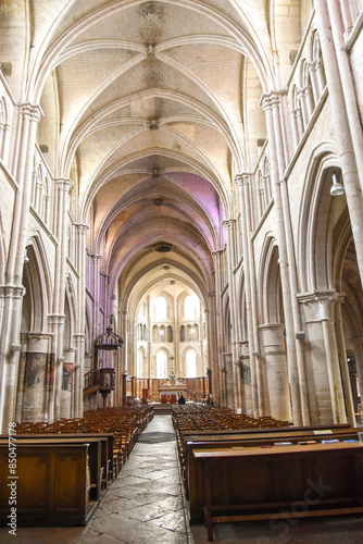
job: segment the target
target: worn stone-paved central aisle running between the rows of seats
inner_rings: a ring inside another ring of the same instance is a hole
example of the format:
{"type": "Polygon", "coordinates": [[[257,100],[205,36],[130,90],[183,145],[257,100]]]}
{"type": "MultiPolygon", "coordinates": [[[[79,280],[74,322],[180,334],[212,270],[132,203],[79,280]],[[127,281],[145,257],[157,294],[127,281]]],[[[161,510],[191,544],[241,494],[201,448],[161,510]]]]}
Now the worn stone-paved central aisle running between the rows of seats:
{"type": "Polygon", "coordinates": [[[82,544],[193,544],[171,416],[155,416],[107,491],[82,544]]]}

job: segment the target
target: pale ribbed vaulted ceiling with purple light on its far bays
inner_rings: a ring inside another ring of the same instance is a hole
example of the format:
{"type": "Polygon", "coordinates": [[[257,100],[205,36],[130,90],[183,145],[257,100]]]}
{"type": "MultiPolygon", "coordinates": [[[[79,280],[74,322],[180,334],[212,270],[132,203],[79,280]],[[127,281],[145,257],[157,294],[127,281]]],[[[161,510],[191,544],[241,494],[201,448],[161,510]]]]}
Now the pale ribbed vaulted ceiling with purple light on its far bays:
{"type": "Polygon", "coordinates": [[[205,296],[235,174],[266,136],[261,94],[299,44],[300,7],[287,20],[273,0],[36,0],[22,18],[21,0],[5,3],[13,91],[41,104],[38,144],[72,178],[89,251],[125,289],[167,262],[205,296]],[[172,250],[155,251],[161,242],[172,250]]]}

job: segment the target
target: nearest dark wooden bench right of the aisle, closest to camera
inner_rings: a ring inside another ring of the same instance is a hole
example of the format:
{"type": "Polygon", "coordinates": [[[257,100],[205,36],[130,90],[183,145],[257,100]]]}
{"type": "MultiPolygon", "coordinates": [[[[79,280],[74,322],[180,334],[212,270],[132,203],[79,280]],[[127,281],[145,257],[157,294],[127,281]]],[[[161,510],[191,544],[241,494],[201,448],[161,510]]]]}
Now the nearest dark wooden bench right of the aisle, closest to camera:
{"type": "Polygon", "coordinates": [[[363,512],[359,443],[192,452],[203,473],[208,541],[213,523],[363,512]]]}

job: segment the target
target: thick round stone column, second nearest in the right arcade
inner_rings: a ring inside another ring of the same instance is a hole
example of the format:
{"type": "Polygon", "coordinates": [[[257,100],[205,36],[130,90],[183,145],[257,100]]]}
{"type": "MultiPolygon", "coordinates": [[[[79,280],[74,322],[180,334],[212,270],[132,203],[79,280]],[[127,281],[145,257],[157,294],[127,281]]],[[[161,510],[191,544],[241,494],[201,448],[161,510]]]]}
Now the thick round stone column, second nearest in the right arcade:
{"type": "Polygon", "coordinates": [[[284,323],[260,325],[267,367],[267,387],[271,416],[275,419],[292,418],[289,381],[286,364],[284,323]]]}

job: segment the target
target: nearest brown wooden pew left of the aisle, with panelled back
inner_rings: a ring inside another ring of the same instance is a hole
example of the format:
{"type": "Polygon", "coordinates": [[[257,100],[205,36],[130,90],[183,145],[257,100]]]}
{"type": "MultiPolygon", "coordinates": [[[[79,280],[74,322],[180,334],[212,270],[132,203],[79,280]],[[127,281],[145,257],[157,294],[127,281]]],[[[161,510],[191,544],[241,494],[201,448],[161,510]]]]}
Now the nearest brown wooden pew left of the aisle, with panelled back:
{"type": "Polygon", "coordinates": [[[9,470],[9,445],[0,444],[0,523],[10,515],[8,482],[16,485],[18,527],[85,526],[89,502],[88,444],[16,442],[16,475],[9,470]],[[10,477],[10,478],[9,478],[10,477]]]}

